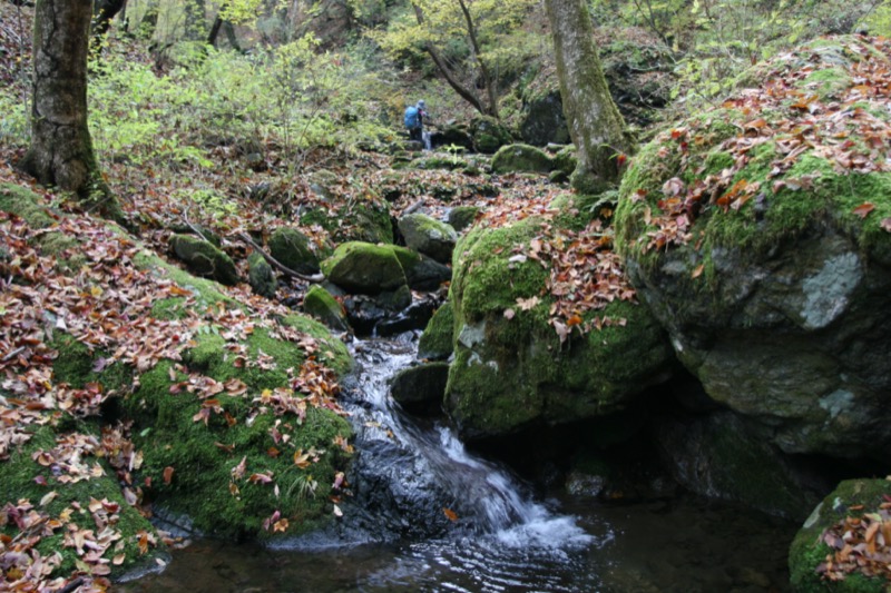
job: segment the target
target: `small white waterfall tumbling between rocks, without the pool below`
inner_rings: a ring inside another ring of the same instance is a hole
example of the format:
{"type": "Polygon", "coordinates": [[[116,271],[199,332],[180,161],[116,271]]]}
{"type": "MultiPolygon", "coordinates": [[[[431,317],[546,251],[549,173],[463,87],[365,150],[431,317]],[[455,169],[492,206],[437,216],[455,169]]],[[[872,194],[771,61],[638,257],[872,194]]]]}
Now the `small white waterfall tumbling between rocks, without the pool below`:
{"type": "Polygon", "coordinates": [[[363,408],[363,414],[354,418],[354,424],[361,423],[364,429],[359,448],[375,451],[383,439],[399,447],[401,463],[411,466],[410,476],[395,467],[384,468],[388,478],[398,482],[392,485],[396,498],[405,478],[415,481],[418,473],[423,473],[412,487],[424,495],[420,503],[432,507],[430,511],[452,535],[495,537],[501,545],[517,547],[584,547],[591,543],[571,517],[555,515],[545,504],[535,502],[503,467],[469,453],[450,427],[402,414],[390,397],[389,379],[413,362],[412,337],[404,334],[353,346],[354,357],[362,365],[354,388],[363,408]]]}

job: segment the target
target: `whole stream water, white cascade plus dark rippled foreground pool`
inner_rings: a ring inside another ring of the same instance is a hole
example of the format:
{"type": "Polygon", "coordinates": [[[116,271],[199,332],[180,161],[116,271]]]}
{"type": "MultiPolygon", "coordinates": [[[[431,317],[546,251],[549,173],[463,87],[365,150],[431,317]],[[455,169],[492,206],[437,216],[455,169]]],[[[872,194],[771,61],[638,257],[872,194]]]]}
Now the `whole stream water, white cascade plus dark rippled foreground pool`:
{"type": "Polygon", "coordinates": [[[449,427],[401,413],[389,378],[411,334],[354,344],[351,412],[364,491],[355,526],[273,548],[202,540],[121,589],[189,591],[785,591],[795,526],[696,498],[536,501],[449,427]],[[378,501],[378,502],[375,502],[378,501]],[[390,501],[375,508],[380,501],[390,501]],[[393,502],[395,504],[393,504],[393,502]],[[369,508],[370,507],[370,508],[369,508]],[[365,511],[365,515],[362,512],[365,511]],[[381,523],[384,523],[381,525],[381,523]]]}

